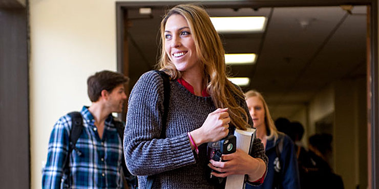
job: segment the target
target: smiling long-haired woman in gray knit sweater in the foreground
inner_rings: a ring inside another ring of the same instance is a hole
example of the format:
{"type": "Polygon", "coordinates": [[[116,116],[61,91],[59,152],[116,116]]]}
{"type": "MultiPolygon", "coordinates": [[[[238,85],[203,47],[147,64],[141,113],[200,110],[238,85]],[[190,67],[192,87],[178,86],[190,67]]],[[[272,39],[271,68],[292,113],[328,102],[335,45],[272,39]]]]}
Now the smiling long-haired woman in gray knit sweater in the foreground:
{"type": "Polygon", "coordinates": [[[158,67],[170,76],[171,87],[165,138],[159,138],[163,81],[153,71],[133,87],[124,132],[125,160],[139,187],[155,175],[153,188],[215,188],[206,181],[209,167],[223,172],[213,173],[217,177],[246,174],[260,184],[267,163],[260,139],[250,154],[237,150],[223,155],[225,162],[209,163],[206,154],[207,143],[229,129],[252,126],[242,91],[227,80],[223,46],[208,14],[178,5],[163,17],[161,37],[158,67]]]}

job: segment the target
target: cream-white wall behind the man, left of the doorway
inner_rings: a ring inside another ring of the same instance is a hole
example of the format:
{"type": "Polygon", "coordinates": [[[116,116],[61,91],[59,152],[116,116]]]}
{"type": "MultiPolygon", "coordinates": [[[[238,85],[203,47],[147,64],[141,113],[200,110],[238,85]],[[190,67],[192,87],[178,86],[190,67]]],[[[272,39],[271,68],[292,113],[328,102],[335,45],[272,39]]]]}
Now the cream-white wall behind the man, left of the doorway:
{"type": "Polygon", "coordinates": [[[88,76],[116,70],[115,9],[110,0],[30,0],[31,188],[41,188],[54,123],[90,105],[88,76]]]}

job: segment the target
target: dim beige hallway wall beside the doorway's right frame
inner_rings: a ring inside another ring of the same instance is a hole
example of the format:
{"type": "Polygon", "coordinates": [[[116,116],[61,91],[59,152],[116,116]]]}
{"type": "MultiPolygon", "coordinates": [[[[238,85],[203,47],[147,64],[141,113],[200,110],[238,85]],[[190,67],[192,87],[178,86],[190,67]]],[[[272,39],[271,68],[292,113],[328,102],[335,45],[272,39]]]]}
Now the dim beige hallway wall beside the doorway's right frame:
{"type": "Polygon", "coordinates": [[[335,86],[334,171],[345,188],[367,187],[366,79],[342,80],[335,86]]]}

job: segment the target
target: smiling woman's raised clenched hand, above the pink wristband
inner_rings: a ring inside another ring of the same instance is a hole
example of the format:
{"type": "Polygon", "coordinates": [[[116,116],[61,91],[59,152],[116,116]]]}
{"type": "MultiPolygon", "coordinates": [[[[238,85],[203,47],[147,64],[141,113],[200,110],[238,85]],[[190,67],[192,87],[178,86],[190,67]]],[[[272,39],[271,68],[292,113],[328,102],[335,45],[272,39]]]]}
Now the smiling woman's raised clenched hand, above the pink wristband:
{"type": "Polygon", "coordinates": [[[228,134],[230,117],[227,110],[228,108],[218,108],[209,113],[203,125],[190,132],[196,146],[210,141],[218,141],[228,134]]]}

